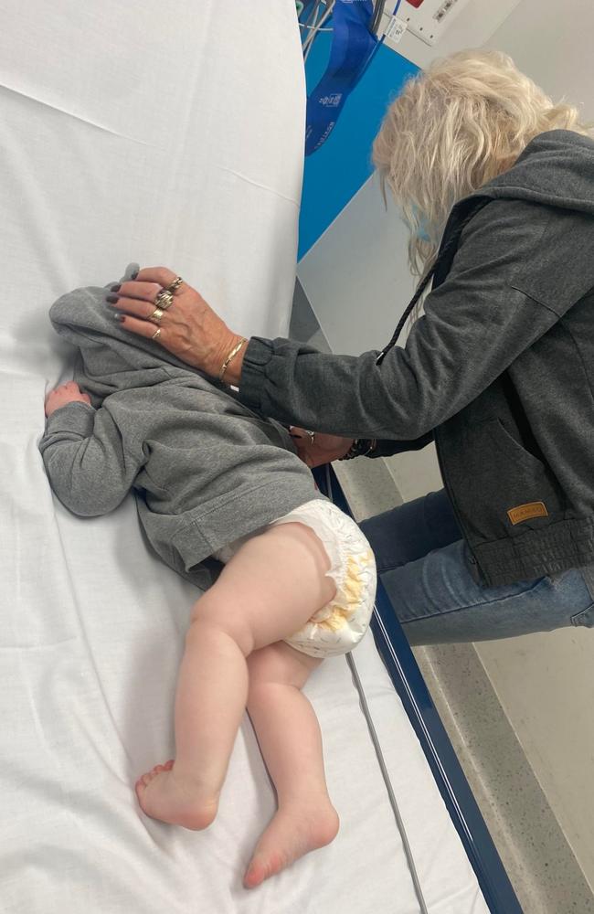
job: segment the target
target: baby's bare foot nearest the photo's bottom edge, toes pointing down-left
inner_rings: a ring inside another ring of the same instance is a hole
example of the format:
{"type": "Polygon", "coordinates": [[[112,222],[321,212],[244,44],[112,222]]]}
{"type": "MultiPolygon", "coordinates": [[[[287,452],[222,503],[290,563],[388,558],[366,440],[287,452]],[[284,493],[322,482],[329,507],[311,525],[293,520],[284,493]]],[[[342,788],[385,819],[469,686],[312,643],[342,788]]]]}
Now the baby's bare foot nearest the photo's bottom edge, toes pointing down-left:
{"type": "Polygon", "coordinates": [[[338,813],[327,798],[311,806],[280,809],[260,837],[243,885],[260,886],[264,879],[280,873],[309,851],[329,845],[338,832],[338,824],[338,813]]]}

